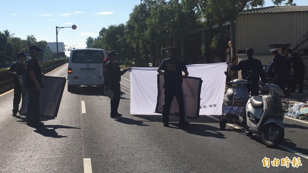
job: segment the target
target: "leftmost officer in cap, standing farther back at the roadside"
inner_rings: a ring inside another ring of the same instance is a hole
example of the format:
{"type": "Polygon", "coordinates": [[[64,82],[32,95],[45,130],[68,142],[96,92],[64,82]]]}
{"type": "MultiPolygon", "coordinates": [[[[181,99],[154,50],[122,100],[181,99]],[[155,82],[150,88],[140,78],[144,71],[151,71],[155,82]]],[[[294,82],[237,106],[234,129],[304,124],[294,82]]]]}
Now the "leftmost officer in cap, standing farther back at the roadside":
{"type": "Polygon", "coordinates": [[[27,55],[28,54],[25,54],[24,52],[17,53],[17,62],[13,63],[9,69],[9,74],[14,76],[14,99],[12,116],[16,116],[17,112],[19,112],[19,104],[21,103],[22,99],[22,88],[18,80],[18,75],[25,75],[26,73],[25,61],[27,55]]]}

